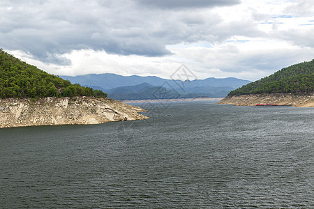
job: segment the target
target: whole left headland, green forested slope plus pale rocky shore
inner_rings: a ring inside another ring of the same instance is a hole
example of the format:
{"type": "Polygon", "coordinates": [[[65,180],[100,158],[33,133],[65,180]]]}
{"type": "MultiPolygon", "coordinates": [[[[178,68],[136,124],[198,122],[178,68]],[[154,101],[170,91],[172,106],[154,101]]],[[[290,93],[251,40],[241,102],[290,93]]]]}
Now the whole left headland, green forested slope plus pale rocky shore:
{"type": "Polygon", "coordinates": [[[0,49],[0,128],[146,119],[145,111],[71,84],[0,49]]]}

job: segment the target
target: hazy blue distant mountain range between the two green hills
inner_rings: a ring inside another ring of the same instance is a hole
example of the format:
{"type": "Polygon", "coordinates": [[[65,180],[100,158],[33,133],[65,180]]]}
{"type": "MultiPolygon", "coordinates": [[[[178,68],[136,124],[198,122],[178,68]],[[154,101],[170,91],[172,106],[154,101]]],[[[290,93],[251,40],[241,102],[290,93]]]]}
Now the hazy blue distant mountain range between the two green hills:
{"type": "Polygon", "coordinates": [[[112,73],[61,76],[73,84],[88,86],[108,93],[116,100],[144,100],[170,98],[223,98],[236,88],[250,83],[233,77],[195,79],[193,81],[162,79],[156,76],[122,76],[112,73]]]}

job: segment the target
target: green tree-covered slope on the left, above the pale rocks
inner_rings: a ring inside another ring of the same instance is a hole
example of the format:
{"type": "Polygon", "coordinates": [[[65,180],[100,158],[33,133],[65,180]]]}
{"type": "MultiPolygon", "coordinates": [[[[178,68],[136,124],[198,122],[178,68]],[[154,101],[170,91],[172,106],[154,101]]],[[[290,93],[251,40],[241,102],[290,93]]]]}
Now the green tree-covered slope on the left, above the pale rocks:
{"type": "Polygon", "coordinates": [[[68,80],[29,65],[0,49],[0,98],[72,96],[107,97],[107,93],[71,84],[68,80]]]}

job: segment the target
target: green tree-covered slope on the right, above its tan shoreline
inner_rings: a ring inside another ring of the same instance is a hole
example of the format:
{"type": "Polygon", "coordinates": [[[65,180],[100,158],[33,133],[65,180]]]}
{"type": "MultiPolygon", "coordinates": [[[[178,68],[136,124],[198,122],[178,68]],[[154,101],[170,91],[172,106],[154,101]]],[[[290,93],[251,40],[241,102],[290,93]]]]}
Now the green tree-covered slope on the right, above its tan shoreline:
{"type": "Polygon", "coordinates": [[[313,93],[314,59],[309,62],[291,65],[264,77],[256,82],[246,84],[231,91],[228,95],[257,93],[313,93]]]}

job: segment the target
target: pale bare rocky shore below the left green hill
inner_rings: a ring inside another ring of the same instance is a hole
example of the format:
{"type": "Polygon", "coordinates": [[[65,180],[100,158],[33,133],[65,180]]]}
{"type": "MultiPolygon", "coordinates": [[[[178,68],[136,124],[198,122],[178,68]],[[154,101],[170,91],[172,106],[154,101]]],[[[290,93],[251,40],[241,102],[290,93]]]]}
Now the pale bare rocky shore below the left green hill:
{"type": "Polygon", "coordinates": [[[0,128],[146,119],[138,114],[141,111],[145,110],[109,98],[0,99],[0,128]]]}

